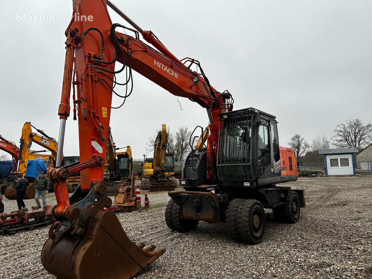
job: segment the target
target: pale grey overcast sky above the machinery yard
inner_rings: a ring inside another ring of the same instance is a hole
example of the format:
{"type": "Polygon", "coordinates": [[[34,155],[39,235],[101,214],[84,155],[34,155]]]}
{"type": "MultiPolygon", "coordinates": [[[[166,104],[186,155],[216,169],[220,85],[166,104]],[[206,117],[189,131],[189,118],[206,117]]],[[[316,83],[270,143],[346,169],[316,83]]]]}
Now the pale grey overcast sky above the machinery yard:
{"type": "MultiPolygon", "coordinates": [[[[294,134],[308,142],[318,134],[330,137],[334,126],[349,118],[372,122],[371,1],[113,3],[178,58],[201,61],[212,86],[233,95],[234,109],[255,107],[276,115],[282,146],[294,134]]],[[[0,134],[18,143],[23,123],[31,121],[58,138],[69,21],[20,23],[16,14],[70,16],[72,1],[2,1],[1,10],[0,134]]],[[[109,11],[113,23],[127,25],[109,11]]],[[[179,98],[180,110],[176,96],[137,73],[133,80],[133,93],[113,110],[110,126],[117,147],[131,145],[134,158],[142,158],[147,138],[163,123],[171,129],[208,124],[196,103],[179,98]],[[164,108],[156,107],[164,100],[164,108]]],[[[113,105],[119,102],[113,98],[113,105]]],[[[78,151],[71,112],[64,154],[78,151]]]]}

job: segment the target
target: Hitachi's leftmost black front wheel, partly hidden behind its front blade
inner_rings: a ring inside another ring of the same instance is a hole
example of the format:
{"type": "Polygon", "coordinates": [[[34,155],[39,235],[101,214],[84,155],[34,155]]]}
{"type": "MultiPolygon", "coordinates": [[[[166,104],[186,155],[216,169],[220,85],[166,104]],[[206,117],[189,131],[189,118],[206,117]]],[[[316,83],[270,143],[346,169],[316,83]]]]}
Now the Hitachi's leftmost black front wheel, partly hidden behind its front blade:
{"type": "Polygon", "coordinates": [[[180,206],[170,199],[166,211],[165,221],[172,231],[190,232],[198,227],[199,221],[180,218],[180,206]]]}

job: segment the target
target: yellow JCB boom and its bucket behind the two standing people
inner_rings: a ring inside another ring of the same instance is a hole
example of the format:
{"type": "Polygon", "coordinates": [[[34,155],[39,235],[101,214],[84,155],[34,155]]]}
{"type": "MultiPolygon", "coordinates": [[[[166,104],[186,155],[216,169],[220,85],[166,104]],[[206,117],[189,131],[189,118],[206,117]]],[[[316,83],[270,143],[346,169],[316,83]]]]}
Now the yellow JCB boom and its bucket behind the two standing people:
{"type": "MultiPolygon", "coordinates": [[[[32,142],[40,145],[41,147],[46,148],[47,150],[51,151],[52,158],[55,158],[57,155],[57,147],[58,143],[55,141],[54,138],[49,137],[44,131],[40,129],[36,129],[36,131],[41,134],[36,134],[32,131],[32,128],[35,128],[31,125],[31,122],[26,122],[22,127],[22,135],[20,138],[20,145],[19,145],[19,157],[18,157],[18,164],[16,171],[9,176],[10,179],[15,180],[17,174],[22,174],[26,176],[27,165],[29,160],[33,160],[35,157],[44,157],[42,155],[35,156],[33,152],[30,150],[32,142]]],[[[52,163],[54,165],[54,163],[52,163]]],[[[26,189],[25,199],[33,199],[35,198],[35,185],[32,181],[32,178],[29,178],[30,185],[26,189]]],[[[11,183],[5,189],[5,197],[7,199],[16,199],[17,193],[14,187],[14,183],[11,183]]]]}

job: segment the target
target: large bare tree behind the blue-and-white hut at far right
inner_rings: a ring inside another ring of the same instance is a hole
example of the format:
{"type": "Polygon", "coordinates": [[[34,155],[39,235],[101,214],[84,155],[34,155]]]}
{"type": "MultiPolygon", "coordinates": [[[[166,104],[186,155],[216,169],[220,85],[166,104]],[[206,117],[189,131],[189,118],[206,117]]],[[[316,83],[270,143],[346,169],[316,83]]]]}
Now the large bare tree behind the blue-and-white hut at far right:
{"type": "Polygon", "coordinates": [[[332,144],[339,148],[363,148],[372,141],[372,124],[359,118],[346,120],[334,129],[332,144]]]}

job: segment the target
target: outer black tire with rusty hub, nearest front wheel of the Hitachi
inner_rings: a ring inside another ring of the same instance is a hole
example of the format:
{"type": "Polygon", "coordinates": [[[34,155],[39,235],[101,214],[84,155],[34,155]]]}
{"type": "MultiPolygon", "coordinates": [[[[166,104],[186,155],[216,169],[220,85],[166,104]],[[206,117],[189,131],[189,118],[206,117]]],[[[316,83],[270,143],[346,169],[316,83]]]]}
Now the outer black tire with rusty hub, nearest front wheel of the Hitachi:
{"type": "Polygon", "coordinates": [[[262,204],[254,199],[242,202],[238,209],[238,234],[243,242],[257,244],[262,241],[266,216],[262,204]]]}

